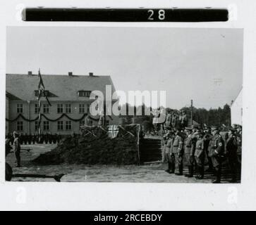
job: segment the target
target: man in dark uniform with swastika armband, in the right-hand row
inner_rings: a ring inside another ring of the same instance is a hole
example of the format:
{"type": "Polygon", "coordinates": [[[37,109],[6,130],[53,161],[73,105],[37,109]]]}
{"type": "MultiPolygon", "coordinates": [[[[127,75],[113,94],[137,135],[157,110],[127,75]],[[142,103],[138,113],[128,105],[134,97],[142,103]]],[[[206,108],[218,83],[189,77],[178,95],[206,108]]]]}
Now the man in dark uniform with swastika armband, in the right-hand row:
{"type": "Polygon", "coordinates": [[[218,127],[212,127],[212,146],[209,150],[209,157],[212,158],[212,165],[214,167],[215,179],[212,183],[220,183],[221,181],[221,162],[224,153],[224,140],[219,134],[218,127]]]}

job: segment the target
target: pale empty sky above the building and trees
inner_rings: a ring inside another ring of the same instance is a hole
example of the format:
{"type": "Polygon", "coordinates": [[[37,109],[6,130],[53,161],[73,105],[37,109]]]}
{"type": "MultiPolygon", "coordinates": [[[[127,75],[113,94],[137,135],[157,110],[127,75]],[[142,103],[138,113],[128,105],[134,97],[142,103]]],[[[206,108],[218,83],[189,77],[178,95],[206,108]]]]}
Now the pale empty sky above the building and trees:
{"type": "Polygon", "coordinates": [[[110,75],[116,90],[166,91],[176,109],[191,99],[222,108],[242,89],[242,29],[7,27],[6,35],[6,73],[110,75]]]}

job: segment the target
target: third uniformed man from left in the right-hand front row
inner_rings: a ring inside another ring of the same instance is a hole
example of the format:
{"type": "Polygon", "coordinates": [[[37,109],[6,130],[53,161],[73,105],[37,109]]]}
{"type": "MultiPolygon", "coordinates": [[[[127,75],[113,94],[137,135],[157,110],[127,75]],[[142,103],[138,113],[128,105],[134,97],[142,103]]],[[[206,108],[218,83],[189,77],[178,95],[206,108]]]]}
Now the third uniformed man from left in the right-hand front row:
{"type": "Polygon", "coordinates": [[[192,129],[189,127],[185,127],[185,131],[187,133],[187,137],[184,141],[185,148],[185,158],[188,162],[188,174],[185,176],[193,177],[194,175],[194,148],[193,148],[193,139],[192,139],[192,129]]]}

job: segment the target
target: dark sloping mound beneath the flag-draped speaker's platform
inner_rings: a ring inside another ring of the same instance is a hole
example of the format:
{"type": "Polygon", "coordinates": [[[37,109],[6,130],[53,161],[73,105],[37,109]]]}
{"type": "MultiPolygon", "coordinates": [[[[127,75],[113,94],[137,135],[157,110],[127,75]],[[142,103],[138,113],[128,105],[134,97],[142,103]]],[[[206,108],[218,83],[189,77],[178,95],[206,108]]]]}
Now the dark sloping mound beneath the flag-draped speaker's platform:
{"type": "Polygon", "coordinates": [[[32,162],[37,165],[138,164],[137,131],[138,126],[128,126],[125,130],[119,129],[118,136],[111,139],[106,128],[94,127],[85,131],[82,136],[63,139],[54,150],[39,155],[32,162]]]}

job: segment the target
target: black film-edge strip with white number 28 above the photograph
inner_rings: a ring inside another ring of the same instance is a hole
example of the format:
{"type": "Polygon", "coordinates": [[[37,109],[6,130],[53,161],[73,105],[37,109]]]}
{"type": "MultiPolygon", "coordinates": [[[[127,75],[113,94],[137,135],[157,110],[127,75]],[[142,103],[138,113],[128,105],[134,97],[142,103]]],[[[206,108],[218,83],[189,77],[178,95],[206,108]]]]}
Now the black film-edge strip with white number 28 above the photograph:
{"type": "Polygon", "coordinates": [[[225,8],[25,8],[24,21],[225,22],[225,8]]]}

